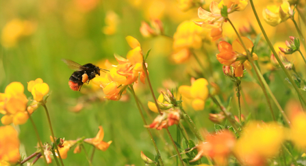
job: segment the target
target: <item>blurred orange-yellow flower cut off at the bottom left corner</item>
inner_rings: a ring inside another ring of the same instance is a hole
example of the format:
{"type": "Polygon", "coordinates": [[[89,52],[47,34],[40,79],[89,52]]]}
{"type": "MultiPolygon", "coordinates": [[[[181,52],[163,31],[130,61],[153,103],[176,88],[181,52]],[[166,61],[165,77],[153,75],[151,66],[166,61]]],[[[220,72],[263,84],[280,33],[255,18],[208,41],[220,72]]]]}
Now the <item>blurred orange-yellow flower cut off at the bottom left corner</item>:
{"type": "Polygon", "coordinates": [[[16,163],[20,159],[18,133],[12,126],[0,126],[0,163],[16,163]]]}

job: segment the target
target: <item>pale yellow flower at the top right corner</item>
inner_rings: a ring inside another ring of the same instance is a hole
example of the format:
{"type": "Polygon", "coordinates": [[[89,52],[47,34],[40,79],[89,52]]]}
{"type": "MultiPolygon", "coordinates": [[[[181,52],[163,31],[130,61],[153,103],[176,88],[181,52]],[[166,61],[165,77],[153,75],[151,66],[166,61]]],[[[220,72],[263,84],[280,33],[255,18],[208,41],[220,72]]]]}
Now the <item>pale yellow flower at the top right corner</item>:
{"type": "Polygon", "coordinates": [[[293,11],[287,0],[283,0],[281,4],[268,5],[262,12],[266,23],[272,26],[277,26],[279,23],[288,20],[292,16],[293,11]]]}

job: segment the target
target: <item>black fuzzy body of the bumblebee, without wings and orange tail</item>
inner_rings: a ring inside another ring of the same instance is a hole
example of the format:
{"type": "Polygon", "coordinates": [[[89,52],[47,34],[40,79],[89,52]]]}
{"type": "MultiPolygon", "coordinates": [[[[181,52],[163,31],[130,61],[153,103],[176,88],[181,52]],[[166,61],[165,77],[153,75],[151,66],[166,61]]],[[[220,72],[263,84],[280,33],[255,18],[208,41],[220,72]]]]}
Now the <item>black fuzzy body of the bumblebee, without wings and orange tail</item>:
{"type": "Polygon", "coordinates": [[[73,72],[71,75],[69,81],[73,81],[73,83],[77,83],[79,86],[83,85],[82,82],[83,75],[88,75],[88,83],[91,79],[94,79],[96,77],[96,74],[100,75],[100,68],[97,66],[94,66],[93,64],[85,64],[83,65],[84,68],[79,71],[73,72]]]}

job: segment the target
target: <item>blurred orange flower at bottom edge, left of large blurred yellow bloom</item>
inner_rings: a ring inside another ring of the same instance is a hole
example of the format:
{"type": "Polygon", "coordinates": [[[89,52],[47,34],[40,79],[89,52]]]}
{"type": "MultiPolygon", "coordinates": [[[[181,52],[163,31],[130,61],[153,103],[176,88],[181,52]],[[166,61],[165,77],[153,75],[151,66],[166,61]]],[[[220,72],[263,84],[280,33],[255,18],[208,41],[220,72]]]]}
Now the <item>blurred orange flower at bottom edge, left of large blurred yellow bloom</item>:
{"type": "Polygon", "coordinates": [[[198,161],[202,156],[209,156],[214,158],[217,165],[227,165],[227,157],[235,146],[235,136],[228,130],[222,130],[220,133],[208,135],[205,140],[196,146],[199,152],[190,162],[198,161]]]}

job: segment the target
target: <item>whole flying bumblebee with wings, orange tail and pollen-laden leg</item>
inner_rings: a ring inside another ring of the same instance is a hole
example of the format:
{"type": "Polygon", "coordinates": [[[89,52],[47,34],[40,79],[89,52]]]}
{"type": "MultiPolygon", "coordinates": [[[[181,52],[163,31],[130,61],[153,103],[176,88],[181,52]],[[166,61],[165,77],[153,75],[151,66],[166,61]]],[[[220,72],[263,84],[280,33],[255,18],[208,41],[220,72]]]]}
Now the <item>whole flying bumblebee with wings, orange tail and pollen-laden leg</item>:
{"type": "Polygon", "coordinates": [[[83,66],[77,64],[75,61],[71,61],[68,59],[62,59],[69,68],[75,70],[71,77],[69,78],[68,85],[74,91],[80,91],[81,86],[84,83],[89,83],[90,80],[96,77],[96,74],[100,75],[100,71],[106,72],[108,70],[99,68],[99,66],[94,66],[93,64],[84,64],[83,66]]]}

